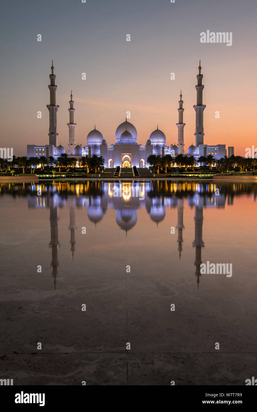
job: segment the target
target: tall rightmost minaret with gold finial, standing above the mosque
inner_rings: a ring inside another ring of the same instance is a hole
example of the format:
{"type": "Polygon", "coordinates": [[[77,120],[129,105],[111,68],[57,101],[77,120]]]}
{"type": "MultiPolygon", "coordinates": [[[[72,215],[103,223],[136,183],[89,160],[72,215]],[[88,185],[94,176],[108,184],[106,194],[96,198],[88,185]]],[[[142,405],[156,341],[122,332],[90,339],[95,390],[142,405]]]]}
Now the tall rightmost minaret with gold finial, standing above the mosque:
{"type": "Polygon", "coordinates": [[[195,129],[195,145],[203,145],[203,110],[206,108],[206,105],[203,105],[203,75],[201,75],[201,60],[199,61],[199,74],[197,77],[196,84],[196,105],[194,105],[194,110],[196,112],[196,129],[195,129]]]}

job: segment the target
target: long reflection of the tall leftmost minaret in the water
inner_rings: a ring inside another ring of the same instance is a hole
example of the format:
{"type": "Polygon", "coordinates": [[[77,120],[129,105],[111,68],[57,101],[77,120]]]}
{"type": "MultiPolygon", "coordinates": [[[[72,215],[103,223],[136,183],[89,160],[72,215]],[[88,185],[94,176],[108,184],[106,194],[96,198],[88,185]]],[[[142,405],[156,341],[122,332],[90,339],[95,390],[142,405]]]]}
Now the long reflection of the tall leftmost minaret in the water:
{"type": "Polygon", "coordinates": [[[50,202],[50,226],[51,226],[51,241],[49,247],[52,248],[52,261],[51,266],[53,267],[52,276],[54,276],[54,288],[56,288],[56,276],[58,262],[58,206],[54,206],[54,198],[51,196],[49,199],[50,202]]]}

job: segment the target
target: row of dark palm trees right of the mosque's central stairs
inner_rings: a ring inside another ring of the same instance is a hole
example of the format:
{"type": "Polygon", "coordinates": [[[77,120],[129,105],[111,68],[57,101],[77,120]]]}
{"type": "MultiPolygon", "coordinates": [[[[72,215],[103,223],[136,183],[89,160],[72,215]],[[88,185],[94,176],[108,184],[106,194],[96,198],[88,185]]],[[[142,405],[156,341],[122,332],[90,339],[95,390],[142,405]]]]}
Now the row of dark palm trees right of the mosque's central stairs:
{"type": "Polygon", "coordinates": [[[183,167],[187,171],[189,167],[192,167],[194,171],[195,166],[209,166],[209,169],[212,170],[213,166],[222,173],[224,169],[227,169],[227,172],[234,169],[235,167],[240,168],[241,171],[246,171],[247,169],[255,171],[255,167],[257,166],[257,159],[255,158],[245,158],[243,156],[234,156],[231,157],[224,156],[221,159],[215,159],[213,155],[208,156],[199,156],[194,157],[193,155],[165,155],[161,157],[160,155],[149,155],[147,157],[147,162],[152,166],[152,168],[157,169],[159,173],[159,169],[165,170],[167,173],[167,169],[171,167],[183,167]]]}

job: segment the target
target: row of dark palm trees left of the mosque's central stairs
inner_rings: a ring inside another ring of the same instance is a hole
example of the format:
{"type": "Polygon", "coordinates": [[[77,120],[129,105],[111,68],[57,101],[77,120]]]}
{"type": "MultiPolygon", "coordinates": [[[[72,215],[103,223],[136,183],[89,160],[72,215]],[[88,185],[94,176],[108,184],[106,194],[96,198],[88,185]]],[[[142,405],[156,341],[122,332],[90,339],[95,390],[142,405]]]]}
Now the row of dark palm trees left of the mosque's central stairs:
{"type": "MultiPolygon", "coordinates": [[[[93,155],[92,157],[86,155],[84,157],[81,157],[79,160],[76,158],[68,157],[66,153],[63,153],[60,157],[57,157],[57,159],[54,159],[53,156],[40,156],[40,157],[27,157],[27,156],[13,156],[12,162],[8,162],[7,159],[0,159],[0,170],[2,171],[5,169],[6,171],[11,171],[12,168],[21,168],[23,169],[23,173],[25,173],[25,170],[30,168],[30,173],[34,173],[35,169],[37,169],[39,166],[41,170],[43,170],[46,166],[47,167],[52,167],[53,169],[55,167],[59,168],[59,171],[61,171],[61,168],[65,168],[67,171],[70,170],[70,168],[75,168],[77,166],[83,167],[87,173],[89,173],[89,169],[95,170],[95,173],[97,169],[99,170],[100,167],[102,167],[105,163],[105,159],[103,156],[97,156],[93,155]]],[[[11,171],[11,173],[14,171],[11,171]]]]}

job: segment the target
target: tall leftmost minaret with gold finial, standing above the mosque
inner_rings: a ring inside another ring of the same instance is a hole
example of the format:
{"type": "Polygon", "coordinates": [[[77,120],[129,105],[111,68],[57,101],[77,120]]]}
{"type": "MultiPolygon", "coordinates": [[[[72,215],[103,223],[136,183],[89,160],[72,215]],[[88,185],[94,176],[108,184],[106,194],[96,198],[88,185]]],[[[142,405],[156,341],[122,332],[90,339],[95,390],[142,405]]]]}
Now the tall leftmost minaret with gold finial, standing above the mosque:
{"type": "Polygon", "coordinates": [[[55,78],[56,75],[54,75],[54,62],[52,60],[52,67],[51,67],[52,73],[49,75],[50,77],[50,84],[48,85],[48,89],[50,90],[50,104],[47,105],[47,108],[49,110],[49,145],[54,145],[55,147],[58,146],[57,142],[57,110],[59,108],[58,105],[56,105],[56,89],[57,86],[55,84],[55,78]]]}

